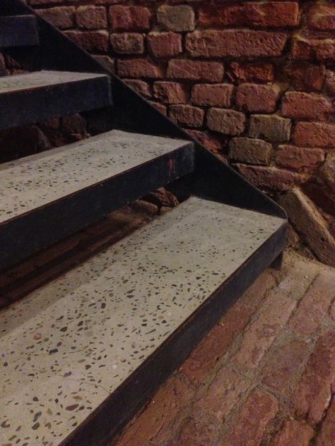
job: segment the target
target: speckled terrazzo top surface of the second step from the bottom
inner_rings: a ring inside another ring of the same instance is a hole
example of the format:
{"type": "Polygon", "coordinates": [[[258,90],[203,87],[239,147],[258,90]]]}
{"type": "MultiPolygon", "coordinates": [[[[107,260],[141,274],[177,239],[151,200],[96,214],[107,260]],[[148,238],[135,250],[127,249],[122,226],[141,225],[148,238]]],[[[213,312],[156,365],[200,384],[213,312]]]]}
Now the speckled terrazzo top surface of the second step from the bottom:
{"type": "Polygon", "coordinates": [[[112,130],[2,164],[0,224],[189,145],[112,130]]]}

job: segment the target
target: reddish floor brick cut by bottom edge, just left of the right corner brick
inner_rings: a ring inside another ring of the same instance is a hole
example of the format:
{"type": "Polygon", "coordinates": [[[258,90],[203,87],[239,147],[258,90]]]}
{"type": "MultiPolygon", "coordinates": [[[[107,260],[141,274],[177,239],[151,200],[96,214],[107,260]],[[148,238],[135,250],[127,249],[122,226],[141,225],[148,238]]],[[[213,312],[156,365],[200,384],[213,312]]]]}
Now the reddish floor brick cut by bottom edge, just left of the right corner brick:
{"type": "Polygon", "coordinates": [[[307,423],[286,420],[281,431],[272,440],[271,446],[309,446],[313,437],[314,430],[307,423]]]}

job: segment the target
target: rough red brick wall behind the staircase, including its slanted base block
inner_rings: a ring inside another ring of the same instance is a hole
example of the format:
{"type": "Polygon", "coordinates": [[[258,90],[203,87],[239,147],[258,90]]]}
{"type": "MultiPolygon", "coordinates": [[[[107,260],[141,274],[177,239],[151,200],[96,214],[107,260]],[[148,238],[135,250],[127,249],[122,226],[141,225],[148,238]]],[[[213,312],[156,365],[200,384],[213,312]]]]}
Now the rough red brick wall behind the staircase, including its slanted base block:
{"type": "Polygon", "coordinates": [[[30,4],[274,194],[335,265],[334,1],[30,4]]]}

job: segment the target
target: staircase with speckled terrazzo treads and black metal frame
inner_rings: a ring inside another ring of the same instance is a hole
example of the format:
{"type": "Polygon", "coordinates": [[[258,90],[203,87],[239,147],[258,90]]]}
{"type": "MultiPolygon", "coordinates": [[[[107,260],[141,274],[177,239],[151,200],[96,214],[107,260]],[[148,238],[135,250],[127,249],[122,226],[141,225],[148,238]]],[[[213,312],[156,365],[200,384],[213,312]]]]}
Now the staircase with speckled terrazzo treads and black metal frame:
{"type": "Polygon", "coordinates": [[[286,215],[20,0],[0,14],[29,71],[0,78],[0,128],[84,112],[96,133],[0,165],[1,270],[160,186],[186,198],[0,312],[0,445],[107,445],[280,264],[286,215]]]}

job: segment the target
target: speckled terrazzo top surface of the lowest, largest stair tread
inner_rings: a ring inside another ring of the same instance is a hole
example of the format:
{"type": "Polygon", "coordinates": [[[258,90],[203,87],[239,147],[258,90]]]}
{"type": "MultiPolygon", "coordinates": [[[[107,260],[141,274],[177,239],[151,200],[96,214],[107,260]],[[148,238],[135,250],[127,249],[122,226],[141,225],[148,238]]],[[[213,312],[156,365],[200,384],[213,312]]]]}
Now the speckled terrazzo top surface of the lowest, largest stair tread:
{"type": "Polygon", "coordinates": [[[192,197],[0,313],[1,444],[58,445],[283,224],[192,197]]]}

